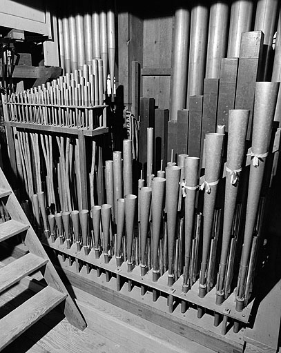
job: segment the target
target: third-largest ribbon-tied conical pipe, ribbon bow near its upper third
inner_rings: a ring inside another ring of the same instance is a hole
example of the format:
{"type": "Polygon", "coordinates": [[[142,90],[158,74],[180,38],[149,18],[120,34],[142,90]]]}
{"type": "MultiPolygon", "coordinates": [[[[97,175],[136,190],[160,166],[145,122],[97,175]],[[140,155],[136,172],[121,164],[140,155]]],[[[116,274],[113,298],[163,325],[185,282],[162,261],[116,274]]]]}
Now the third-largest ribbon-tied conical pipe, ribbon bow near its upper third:
{"type": "Polygon", "coordinates": [[[203,208],[203,245],[202,263],[200,272],[199,296],[206,295],[206,270],[211,243],[213,216],[215,212],[215,197],[217,184],[220,180],[220,168],[222,163],[223,134],[206,134],[205,139],[205,181],[204,181],[204,208],[203,208]]]}

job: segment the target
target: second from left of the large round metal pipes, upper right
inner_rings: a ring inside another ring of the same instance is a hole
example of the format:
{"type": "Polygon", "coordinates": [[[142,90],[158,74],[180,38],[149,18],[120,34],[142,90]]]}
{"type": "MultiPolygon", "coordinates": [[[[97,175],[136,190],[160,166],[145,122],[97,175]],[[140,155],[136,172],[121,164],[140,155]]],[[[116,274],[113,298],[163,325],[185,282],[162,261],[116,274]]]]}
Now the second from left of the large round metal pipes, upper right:
{"type": "Polygon", "coordinates": [[[209,8],[206,1],[198,1],[191,10],[191,39],[189,46],[186,108],[189,97],[203,93],[209,8]]]}

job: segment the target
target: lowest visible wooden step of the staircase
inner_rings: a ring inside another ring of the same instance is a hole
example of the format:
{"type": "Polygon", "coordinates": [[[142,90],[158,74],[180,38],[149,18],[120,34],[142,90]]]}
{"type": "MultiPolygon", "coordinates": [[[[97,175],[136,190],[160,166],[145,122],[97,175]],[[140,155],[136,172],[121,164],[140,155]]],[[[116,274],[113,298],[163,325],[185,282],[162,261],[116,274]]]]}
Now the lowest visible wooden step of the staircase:
{"type": "Polygon", "coordinates": [[[48,286],[4,316],[0,320],[0,351],[64,299],[66,294],[48,286]]]}

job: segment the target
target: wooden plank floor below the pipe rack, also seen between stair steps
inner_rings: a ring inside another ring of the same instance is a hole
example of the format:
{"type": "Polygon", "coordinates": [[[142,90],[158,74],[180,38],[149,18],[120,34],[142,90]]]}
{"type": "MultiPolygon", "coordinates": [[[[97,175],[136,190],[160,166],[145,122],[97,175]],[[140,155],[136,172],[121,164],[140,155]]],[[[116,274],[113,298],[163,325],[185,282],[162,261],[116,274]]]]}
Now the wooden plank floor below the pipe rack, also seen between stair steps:
{"type": "MultiPolygon", "coordinates": [[[[0,318],[40,289],[37,281],[26,279],[4,292],[0,296],[0,318]]],[[[73,290],[88,323],[84,332],[70,325],[57,310],[52,310],[2,352],[214,352],[77,288],[73,290]]]]}

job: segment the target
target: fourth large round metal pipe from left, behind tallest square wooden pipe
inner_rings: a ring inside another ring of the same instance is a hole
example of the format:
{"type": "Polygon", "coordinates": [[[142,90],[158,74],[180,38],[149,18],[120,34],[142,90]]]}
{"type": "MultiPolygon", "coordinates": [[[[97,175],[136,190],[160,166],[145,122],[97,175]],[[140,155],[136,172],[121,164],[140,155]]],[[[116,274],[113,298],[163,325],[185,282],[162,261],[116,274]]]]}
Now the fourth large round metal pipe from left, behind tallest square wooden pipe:
{"type": "Polygon", "coordinates": [[[236,0],[231,5],[227,57],[239,57],[242,32],[251,30],[253,0],[236,0]]]}

